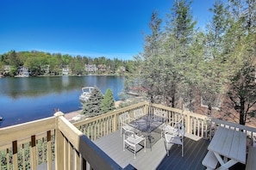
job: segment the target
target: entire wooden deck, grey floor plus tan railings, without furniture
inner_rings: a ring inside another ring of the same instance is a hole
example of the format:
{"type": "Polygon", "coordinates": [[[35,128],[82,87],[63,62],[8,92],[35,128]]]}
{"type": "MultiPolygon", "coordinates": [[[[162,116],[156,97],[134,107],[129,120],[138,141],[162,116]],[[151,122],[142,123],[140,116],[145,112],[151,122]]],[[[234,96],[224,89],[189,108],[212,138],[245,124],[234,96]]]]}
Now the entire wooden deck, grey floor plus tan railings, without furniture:
{"type": "MultiPolygon", "coordinates": [[[[0,169],[205,169],[202,161],[219,127],[243,131],[247,135],[247,149],[255,145],[255,128],[148,102],[75,123],[70,123],[62,112],[56,112],[50,118],[0,129],[0,169]],[[119,117],[124,112],[133,115],[138,109],[144,114],[160,110],[166,113],[166,124],[184,124],[183,157],[176,146],[167,156],[159,136],[152,136],[152,148],[137,152],[136,159],[133,152],[123,151],[119,117]]],[[[237,163],[232,168],[245,169],[249,163],[237,163]]]]}

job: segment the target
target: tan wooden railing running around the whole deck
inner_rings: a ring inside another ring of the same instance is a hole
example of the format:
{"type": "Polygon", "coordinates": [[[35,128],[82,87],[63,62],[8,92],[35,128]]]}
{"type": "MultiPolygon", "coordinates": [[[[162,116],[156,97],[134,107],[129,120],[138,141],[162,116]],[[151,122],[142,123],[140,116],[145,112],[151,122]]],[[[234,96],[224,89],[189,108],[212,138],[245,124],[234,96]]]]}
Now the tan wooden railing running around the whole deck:
{"type": "MultiPolygon", "coordinates": [[[[253,143],[256,129],[194,112],[161,105],[141,102],[133,106],[108,112],[97,117],[70,123],[62,112],[53,117],[42,118],[25,124],[17,124],[0,129],[0,169],[36,169],[45,163],[47,169],[121,169],[103,150],[92,141],[104,137],[121,128],[119,116],[142,109],[144,114],[161,110],[167,112],[167,123],[181,120],[186,133],[196,137],[211,138],[220,125],[247,132],[253,143]],[[52,165],[55,162],[55,165],[52,165]]],[[[129,166],[129,165],[128,165],[129,166]]]]}

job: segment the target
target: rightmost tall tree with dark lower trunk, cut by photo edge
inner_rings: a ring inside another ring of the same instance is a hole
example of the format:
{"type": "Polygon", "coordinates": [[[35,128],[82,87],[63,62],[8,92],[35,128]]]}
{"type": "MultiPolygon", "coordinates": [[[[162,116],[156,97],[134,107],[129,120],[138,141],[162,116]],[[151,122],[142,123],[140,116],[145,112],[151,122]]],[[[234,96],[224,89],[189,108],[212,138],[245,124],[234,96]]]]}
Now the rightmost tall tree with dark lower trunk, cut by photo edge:
{"type": "Polygon", "coordinates": [[[255,1],[230,0],[228,31],[224,36],[228,97],[240,124],[255,116],[255,1]],[[229,68],[232,68],[231,70],[229,68]]]}

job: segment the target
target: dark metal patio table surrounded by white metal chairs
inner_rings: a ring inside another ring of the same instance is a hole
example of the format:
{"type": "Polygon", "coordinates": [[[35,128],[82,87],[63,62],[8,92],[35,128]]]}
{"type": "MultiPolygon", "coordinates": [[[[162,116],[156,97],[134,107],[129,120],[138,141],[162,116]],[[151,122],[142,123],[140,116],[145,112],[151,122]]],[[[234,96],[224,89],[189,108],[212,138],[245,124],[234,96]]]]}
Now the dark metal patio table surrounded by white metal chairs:
{"type": "Polygon", "coordinates": [[[161,124],[164,124],[166,118],[159,117],[153,114],[147,114],[140,118],[135,119],[134,121],[128,123],[130,126],[134,127],[139,131],[147,133],[147,139],[150,144],[150,149],[152,149],[152,140],[151,132],[156,130],[161,124]]]}

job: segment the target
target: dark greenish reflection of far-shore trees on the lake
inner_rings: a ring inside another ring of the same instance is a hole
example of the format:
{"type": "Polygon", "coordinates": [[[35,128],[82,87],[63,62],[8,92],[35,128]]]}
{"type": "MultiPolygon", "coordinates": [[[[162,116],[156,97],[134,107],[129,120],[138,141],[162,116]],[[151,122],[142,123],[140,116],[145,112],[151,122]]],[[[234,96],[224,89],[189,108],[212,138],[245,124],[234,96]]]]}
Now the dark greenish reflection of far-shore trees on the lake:
{"type": "MultiPolygon", "coordinates": [[[[0,96],[12,99],[37,97],[47,94],[59,94],[64,91],[81,89],[84,86],[97,86],[105,91],[107,88],[122,89],[123,76],[56,76],[3,78],[0,81],[0,96]]],[[[117,97],[117,96],[116,96],[117,97]]]]}

